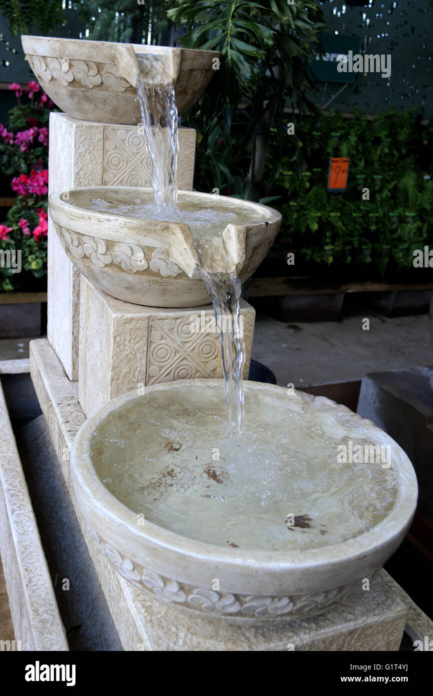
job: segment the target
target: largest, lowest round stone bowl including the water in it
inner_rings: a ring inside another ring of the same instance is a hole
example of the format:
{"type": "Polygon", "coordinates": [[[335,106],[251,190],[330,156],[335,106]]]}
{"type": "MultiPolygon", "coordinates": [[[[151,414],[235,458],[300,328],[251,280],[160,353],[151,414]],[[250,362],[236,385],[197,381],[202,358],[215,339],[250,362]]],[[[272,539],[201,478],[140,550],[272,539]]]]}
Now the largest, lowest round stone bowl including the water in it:
{"type": "Polygon", "coordinates": [[[76,435],[72,480],[117,573],[182,611],[247,624],[320,614],[405,537],[405,452],[325,397],[246,382],[227,434],[222,380],[160,383],[102,406],[76,435]]]}

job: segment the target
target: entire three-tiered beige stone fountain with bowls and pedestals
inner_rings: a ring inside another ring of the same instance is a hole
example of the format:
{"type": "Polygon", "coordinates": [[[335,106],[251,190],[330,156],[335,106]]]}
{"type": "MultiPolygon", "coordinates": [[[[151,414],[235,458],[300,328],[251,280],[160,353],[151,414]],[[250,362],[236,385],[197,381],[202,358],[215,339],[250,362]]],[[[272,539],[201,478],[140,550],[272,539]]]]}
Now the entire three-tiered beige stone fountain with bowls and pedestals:
{"type": "MultiPolygon", "coordinates": [[[[414,514],[405,453],[344,406],[251,382],[243,434],[227,436],[220,335],[190,328],[213,315],[190,228],[133,212],[152,193],[136,53],[165,61],[180,113],[218,54],[23,47],[66,112],[50,121],[49,342],[31,345],[32,378],[124,648],[398,649],[405,609],[377,571],[414,514]],[[350,442],[391,459],[342,466],[350,442]]],[[[194,142],[179,130],[179,201],[211,206],[188,191],[194,142]]],[[[280,216],[218,206],[245,280],[280,216]]],[[[254,310],[240,312],[247,377],[254,310]]]]}

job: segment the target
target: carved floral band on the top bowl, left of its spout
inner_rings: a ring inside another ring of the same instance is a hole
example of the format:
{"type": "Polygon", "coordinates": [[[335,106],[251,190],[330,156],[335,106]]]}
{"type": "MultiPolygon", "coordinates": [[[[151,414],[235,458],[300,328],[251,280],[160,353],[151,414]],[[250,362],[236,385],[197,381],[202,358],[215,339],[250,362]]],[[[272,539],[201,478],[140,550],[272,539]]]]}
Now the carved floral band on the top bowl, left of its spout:
{"type": "MultiPolygon", "coordinates": [[[[100,87],[102,84],[113,92],[124,92],[132,85],[117,74],[117,68],[110,63],[92,63],[92,61],[72,61],[69,58],[49,58],[27,56],[28,63],[40,83],[54,79],[62,87],[72,82],[81,84],[86,89],[100,87]]],[[[75,84],[74,86],[78,86],[75,84]]]]}

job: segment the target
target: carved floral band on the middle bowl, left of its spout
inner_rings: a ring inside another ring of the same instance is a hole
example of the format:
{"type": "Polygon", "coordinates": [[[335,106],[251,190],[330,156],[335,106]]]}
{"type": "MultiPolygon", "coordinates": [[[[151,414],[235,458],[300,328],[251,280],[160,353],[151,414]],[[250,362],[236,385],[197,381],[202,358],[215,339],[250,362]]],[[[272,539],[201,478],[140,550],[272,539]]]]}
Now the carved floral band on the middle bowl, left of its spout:
{"type": "Polygon", "coordinates": [[[86,237],[56,224],[54,227],[63,248],[72,260],[78,261],[86,257],[98,268],[115,264],[131,274],[142,273],[148,269],[147,276],[156,274],[163,278],[173,278],[183,273],[180,266],[170,261],[167,249],[154,249],[149,264],[145,258],[145,249],[148,254],[150,252],[147,247],[143,249],[138,244],[108,242],[99,237],[86,237]]]}

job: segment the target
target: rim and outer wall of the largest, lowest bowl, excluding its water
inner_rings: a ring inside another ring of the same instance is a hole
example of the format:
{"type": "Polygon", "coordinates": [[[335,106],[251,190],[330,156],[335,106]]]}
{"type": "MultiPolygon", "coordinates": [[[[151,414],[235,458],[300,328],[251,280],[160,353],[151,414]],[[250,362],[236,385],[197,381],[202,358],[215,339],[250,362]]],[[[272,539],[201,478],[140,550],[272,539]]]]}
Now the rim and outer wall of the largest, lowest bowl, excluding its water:
{"type": "MultiPolygon", "coordinates": [[[[295,393],[295,398],[300,400],[302,409],[319,411],[327,427],[332,429],[342,425],[354,438],[392,445],[397,492],[382,521],[352,539],[300,551],[226,548],[183,537],[147,519],[138,525],[136,512],[121,503],[99,479],[90,454],[92,436],[106,417],[123,404],[149,399],[151,408],[152,393],[156,390],[165,391],[170,398],[172,390],[186,387],[197,390],[222,388],[222,380],[180,380],[148,386],[141,396],[136,391],[126,393],[102,406],[89,418],[72,446],[71,473],[81,512],[108,560],[126,579],[145,592],[149,590],[149,583],[154,583],[161,592],[165,588],[167,592],[164,590],[161,597],[155,592],[163,601],[170,601],[171,596],[172,601],[183,602],[179,597],[188,596],[188,593],[193,596],[193,603],[197,594],[211,596],[218,609],[218,593],[210,590],[213,579],[218,578],[224,594],[219,605],[222,615],[224,603],[232,602],[232,599],[229,602],[230,597],[236,599],[236,606],[244,607],[240,610],[244,618],[263,619],[261,610],[254,610],[253,616],[249,614],[252,604],[260,605],[260,601],[269,599],[269,605],[274,602],[272,606],[276,606],[275,602],[281,601],[281,606],[287,606],[284,604],[287,598],[303,615],[304,609],[309,612],[311,607],[313,611],[320,609],[321,603],[329,605],[329,601],[338,599],[351,587],[359,589],[363,578],[370,578],[398,548],[414,516],[418,493],[414,469],[405,452],[371,421],[357,416],[345,406],[325,397],[311,397],[300,392],[295,393]],[[170,595],[174,590],[175,594],[180,593],[178,599],[170,595]],[[298,601],[300,597],[302,606],[298,601]]],[[[245,387],[265,395],[283,392],[281,387],[257,382],[246,382],[245,387]]],[[[265,601],[264,604],[268,606],[265,601]]],[[[284,611],[273,614],[270,611],[268,619],[290,620],[288,615],[281,613],[284,611]]],[[[234,618],[234,615],[230,617],[234,618]]]]}

